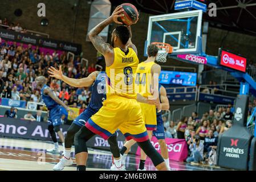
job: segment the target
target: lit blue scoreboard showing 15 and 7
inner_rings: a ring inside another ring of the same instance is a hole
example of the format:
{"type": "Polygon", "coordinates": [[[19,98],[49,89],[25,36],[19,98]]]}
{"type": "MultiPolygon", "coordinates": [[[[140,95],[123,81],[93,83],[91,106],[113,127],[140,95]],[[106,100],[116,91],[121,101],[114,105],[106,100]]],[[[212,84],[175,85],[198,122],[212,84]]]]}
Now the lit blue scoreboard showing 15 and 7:
{"type": "Polygon", "coordinates": [[[196,86],[197,73],[161,71],[159,75],[159,83],[182,86],[196,86]]]}

